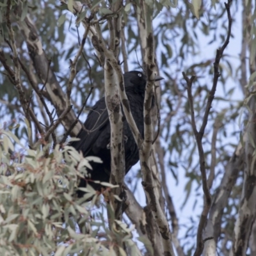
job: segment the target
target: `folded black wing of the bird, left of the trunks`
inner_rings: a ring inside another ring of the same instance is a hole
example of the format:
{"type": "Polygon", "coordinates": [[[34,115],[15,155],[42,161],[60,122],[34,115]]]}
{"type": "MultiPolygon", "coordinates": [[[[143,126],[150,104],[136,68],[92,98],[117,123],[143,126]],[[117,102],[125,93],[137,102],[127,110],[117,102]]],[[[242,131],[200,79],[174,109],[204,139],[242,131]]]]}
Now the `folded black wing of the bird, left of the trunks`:
{"type": "MultiPolygon", "coordinates": [[[[70,146],[76,148],[77,151],[82,151],[84,156],[92,150],[95,141],[102,136],[102,132],[109,126],[108,109],[106,108],[105,98],[100,99],[90,110],[84,127],[77,134],[79,141],[72,141],[70,146]]],[[[107,129],[108,130],[108,129],[107,129]]],[[[108,136],[106,134],[106,136],[108,136]]]]}

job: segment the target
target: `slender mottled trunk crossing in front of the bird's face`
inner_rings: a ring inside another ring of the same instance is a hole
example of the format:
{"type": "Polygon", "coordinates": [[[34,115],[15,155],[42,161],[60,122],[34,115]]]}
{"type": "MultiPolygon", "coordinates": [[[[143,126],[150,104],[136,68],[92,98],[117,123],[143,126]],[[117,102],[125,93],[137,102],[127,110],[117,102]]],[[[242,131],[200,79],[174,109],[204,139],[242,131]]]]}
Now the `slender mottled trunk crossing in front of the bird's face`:
{"type": "MultiPolygon", "coordinates": [[[[152,10],[143,1],[143,12],[144,17],[152,15],[152,10]]],[[[145,48],[145,58],[143,61],[143,66],[145,67],[147,73],[147,85],[145,90],[144,99],[144,140],[143,145],[140,148],[140,163],[141,172],[143,175],[143,189],[147,195],[147,199],[154,216],[154,220],[157,223],[159,232],[161,234],[161,241],[163,243],[163,253],[166,255],[174,255],[172,248],[172,236],[170,233],[170,228],[166,216],[164,215],[163,209],[159,203],[159,198],[156,197],[157,191],[154,186],[154,181],[152,178],[152,170],[150,170],[150,153],[152,152],[152,138],[153,138],[153,125],[151,117],[152,109],[152,96],[153,96],[153,86],[155,80],[155,59],[154,59],[154,36],[152,33],[152,21],[150,19],[145,19],[145,31],[146,31],[146,45],[145,48]]]]}

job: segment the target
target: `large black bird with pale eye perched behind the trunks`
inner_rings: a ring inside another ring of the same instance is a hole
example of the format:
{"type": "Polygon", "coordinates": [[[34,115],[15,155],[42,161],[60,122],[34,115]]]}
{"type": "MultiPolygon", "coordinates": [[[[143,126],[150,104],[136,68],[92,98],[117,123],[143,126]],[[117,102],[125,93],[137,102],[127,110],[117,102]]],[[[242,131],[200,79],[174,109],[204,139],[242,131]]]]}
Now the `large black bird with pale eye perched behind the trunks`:
{"type": "MultiPolygon", "coordinates": [[[[156,76],[155,81],[163,79],[156,76]]],[[[127,98],[130,103],[131,113],[134,121],[144,137],[143,122],[143,102],[145,97],[145,86],[147,77],[138,71],[131,71],[124,74],[124,85],[127,98]]],[[[110,155],[110,124],[108,118],[108,109],[106,107],[105,97],[96,102],[88,113],[84,127],[88,131],[81,129],[77,138],[79,141],[72,141],[70,145],[77,151],[83,152],[83,156],[97,156],[102,159],[102,163],[90,162],[93,170],[88,170],[90,177],[86,179],[100,180],[101,182],[109,182],[111,172],[111,155],[110,155]]],[[[124,120],[124,150],[125,150],[125,173],[139,161],[139,150],[132,136],[127,120],[124,120]]],[[[86,179],[81,179],[79,187],[86,186],[86,179]]],[[[94,189],[100,190],[100,184],[88,181],[94,189]]],[[[79,196],[84,193],[77,192],[79,196]]]]}

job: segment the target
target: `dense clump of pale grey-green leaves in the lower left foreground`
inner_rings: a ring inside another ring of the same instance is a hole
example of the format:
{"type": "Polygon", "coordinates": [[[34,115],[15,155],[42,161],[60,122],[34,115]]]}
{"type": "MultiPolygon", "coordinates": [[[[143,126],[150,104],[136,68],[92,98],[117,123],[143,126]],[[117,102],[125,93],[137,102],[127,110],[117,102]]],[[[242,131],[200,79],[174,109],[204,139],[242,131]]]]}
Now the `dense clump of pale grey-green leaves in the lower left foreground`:
{"type": "MultiPolygon", "coordinates": [[[[84,178],[88,159],[59,145],[46,155],[48,147],[25,149],[11,131],[0,130],[1,255],[109,255],[115,236],[124,237],[132,255],[141,255],[131,240],[132,228],[115,221],[120,228],[111,232],[103,213],[92,212],[97,198],[92,188],[84,188],[83,198],[76,197],[77,177],[84,178]],[[13,152],[13,141],[19,152],[13,152]],[[84,202],[92,196],[92,202],[84,202]]],[[[122,248],[120,252],[125,255],[122,248]]]]}

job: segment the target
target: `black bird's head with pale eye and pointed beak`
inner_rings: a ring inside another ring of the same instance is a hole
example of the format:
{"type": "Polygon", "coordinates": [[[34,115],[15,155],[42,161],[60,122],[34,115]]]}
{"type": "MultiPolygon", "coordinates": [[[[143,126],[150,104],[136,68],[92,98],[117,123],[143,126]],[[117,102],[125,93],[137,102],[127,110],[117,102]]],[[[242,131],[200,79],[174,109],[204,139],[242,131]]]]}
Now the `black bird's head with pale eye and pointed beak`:
{"type": "MultiPolygon", "coordinates": [[[[161,76],[155,76],[155,81],[164,79],[161,76]]],[[[130,71],[124,74],[125,90],[136,90],[145,93],[145,86],[147,84],[147,76],[140,71],[130,71]]]]}

